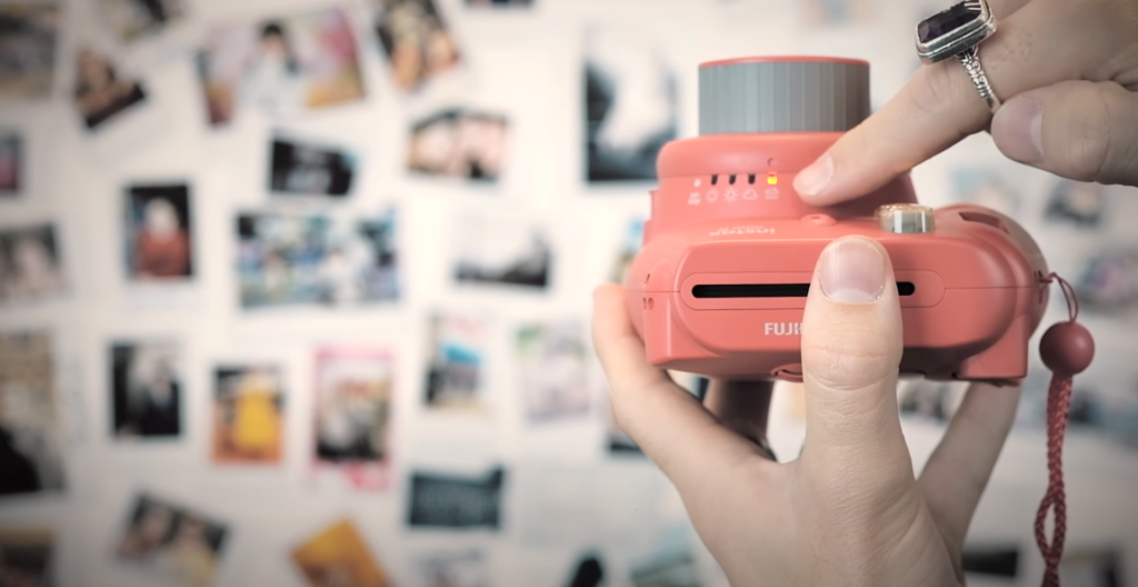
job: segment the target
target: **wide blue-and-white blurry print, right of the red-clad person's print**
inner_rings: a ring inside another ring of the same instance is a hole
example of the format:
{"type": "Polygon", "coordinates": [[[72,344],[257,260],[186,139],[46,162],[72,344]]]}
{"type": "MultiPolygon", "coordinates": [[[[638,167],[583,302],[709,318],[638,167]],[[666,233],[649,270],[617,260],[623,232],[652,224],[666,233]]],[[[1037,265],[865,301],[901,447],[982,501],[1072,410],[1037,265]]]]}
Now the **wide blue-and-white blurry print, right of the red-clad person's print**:
{"type": "Polygon", "coordinates": [[[239,214],[241,307],[347,307],[398,299],[397,228],[394,208],[368,216],[239,214]]]}

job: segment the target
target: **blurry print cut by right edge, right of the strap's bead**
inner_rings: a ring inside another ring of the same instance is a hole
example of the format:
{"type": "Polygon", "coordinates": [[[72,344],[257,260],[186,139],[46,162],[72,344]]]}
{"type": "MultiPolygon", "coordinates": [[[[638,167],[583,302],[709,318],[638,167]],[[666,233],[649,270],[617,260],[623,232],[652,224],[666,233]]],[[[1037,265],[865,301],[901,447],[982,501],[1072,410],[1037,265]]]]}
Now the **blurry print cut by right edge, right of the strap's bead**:
{"type": "Polygon", "coordinates": [[[1087,259],[1074,288],[1080,306],[1088,312],[1138,311],[1138,248],[1106,249],[1087,259]]]}

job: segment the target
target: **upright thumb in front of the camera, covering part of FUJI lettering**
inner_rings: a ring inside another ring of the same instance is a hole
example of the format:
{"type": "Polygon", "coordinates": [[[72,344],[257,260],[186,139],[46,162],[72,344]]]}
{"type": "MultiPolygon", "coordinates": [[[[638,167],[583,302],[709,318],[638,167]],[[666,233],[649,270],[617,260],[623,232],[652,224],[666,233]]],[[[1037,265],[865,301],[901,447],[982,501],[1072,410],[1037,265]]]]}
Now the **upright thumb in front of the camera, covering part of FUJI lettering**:
{"type": "Polygon", "coordinates": [[[818,259],[802,319],[803,458],[858,476],[904,464],[912,474],[897,413],[901,347],[889,254],[866,238],[832,242],[818,259]]]}

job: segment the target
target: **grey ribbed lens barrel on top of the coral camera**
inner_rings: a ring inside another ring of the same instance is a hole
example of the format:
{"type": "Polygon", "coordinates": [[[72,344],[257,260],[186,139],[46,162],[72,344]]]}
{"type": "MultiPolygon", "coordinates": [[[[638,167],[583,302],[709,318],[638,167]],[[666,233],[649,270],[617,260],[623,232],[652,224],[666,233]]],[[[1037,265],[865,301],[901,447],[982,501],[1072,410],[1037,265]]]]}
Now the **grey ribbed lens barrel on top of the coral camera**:
{"type": "Polygon", "coordinates": [[[700,66],[700,134],[846,132],[869,115],[869,64],[769,57],[700,66]]]}

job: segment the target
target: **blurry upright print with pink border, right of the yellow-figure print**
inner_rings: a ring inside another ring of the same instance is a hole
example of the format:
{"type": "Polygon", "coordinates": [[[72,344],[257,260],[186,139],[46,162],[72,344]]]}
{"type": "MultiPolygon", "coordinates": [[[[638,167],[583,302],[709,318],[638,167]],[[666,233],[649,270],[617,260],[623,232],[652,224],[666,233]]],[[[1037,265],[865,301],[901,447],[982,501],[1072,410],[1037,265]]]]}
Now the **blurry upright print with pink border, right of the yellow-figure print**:
{"type": "Polygon", "coordinates": [[[323,348],[315,374],[315,465],[341,472],[355,489],[385,489],[394,357],[378,348],[323,348]]]}

